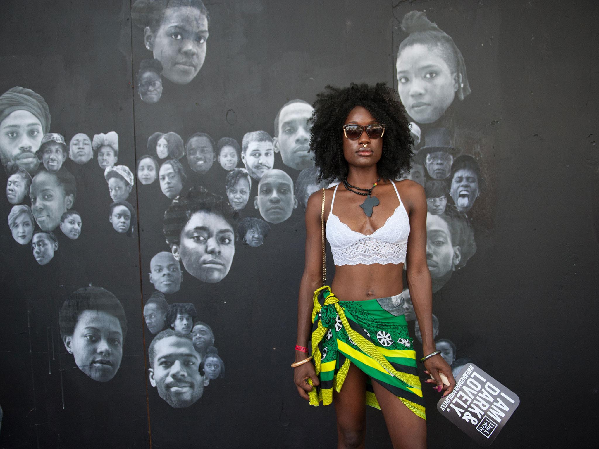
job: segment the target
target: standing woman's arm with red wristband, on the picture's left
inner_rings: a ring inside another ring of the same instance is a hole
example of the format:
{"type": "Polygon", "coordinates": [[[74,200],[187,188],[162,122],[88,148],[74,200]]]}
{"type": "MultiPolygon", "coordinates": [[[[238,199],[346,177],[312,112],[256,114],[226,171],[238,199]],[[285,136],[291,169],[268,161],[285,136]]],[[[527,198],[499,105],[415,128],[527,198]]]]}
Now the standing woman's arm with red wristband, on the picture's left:
{"type": "MultiPolygon", "coordinates": [[[[305,210],[305,265],[304,274],[299,284],[298,299],[298,346],[308,347],[308,339],[312,329],[312,308],[314,290],[322,286],[322,228],[320,227],[320,211],[322,208],[322,190],[310,195],[305,210]]],[[[325,207],[326,208],[326,207],[325,207]]],[[[308,354],[295,351],[295,361],[304,360],[308,354]]],[[[312,390],[305,379],[310,377],[314,385],[319,384],[312,363],[304,363],[294,369],[294,381],[299,395],[308,399],[307,392],[312,390]]]]}

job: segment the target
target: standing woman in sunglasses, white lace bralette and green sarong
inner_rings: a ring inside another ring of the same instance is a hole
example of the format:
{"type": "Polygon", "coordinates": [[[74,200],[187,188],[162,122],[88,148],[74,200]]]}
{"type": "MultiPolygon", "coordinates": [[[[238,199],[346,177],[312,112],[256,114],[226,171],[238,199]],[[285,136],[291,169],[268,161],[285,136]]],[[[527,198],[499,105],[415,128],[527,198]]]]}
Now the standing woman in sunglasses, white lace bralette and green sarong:
{"type": "Polygon", "coordinates": [[[338,447],[364,447],[368,404],[382,409],[394,447],[425,448],[416,353],[401,301],[404,262],[422,330],[425,372],[434,378],[427,382],[447,395],[455,381],[432,337],[424,190],[410,180],[391,181],[410,169],[412,137],[403,105],[383,83],[327,86],[317,95],[312,120],[310,150],[319,180],[342,181],[325,193],[335,277],[317,294],[323,280],[322,190],[308,199],[295,384],[310,404],[334,401],[338,447]],[[312,322],[316,369],[305,362],[312,322]]]}

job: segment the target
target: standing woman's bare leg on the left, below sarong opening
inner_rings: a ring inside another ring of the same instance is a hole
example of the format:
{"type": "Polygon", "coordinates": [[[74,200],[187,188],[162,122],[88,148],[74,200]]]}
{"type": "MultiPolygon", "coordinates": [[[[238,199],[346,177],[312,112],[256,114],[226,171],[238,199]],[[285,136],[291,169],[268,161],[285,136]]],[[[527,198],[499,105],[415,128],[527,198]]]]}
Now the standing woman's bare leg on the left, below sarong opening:
{"type": "Polygon", "coordinates": [[[333,390],[337,412],[337,449],[364,448],[366,436],[366,381],[367,376],[353,363],[341,392],[333,390]]]}

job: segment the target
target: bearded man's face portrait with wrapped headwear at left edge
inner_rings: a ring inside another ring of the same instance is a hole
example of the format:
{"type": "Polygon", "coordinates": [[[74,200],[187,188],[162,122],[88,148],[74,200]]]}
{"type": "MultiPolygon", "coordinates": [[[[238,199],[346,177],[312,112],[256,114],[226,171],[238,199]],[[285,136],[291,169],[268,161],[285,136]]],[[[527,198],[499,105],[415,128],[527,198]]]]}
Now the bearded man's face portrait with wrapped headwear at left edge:
{"type": "Polygon", "coordinates": [[[11,171],[17,165],[34,175],[40,159],[35,152],[50,131],[50,110],[31,89],[13,87],[0,95],[0,162],[11,171]]]}

